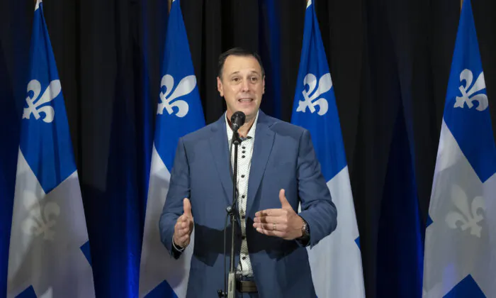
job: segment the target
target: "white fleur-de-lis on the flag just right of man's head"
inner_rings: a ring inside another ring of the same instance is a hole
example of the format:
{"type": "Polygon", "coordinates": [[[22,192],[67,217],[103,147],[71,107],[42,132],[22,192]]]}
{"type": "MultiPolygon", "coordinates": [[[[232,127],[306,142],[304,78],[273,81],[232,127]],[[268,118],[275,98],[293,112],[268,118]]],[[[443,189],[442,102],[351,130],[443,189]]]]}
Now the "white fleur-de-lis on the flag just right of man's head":
{"type": "Polygon", "coordinates": [[[321,96],[325,92],[328,92],[332,88],[332,79],[331,74],[327,72],[327,74],[322,75],[319,79],[319,86],[317,87],[317,77],[312,74],[308,74],[303,79],[303,85],[308,86],[308,91],[303,89],[303,101],[299,101],[298,108],[296,111],[301,111],[305,113],[307,109],[310,110],[311,113],[316,111],[315,106],[319,106],[320,109],[317,112],[320,116],[327,113],[327,109],[329,109],[329,104],[327,103],[327,99],[316,99],[321,96]],[[316,100],[315,100],[316,99],[316,100]]]}

